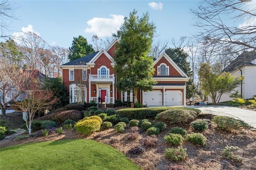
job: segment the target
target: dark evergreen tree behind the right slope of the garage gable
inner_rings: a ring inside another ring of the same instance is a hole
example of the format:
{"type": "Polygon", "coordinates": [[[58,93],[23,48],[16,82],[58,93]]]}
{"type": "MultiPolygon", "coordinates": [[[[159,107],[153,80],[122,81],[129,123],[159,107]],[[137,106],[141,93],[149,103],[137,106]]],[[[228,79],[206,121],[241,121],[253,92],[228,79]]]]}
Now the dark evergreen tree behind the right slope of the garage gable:
{"type": "Polygon", "coordinates": [[[192,71],[190,69],[190,63],[187,61],[188,54],[181,48],[168,48],[165,50],[166,54],[190,77],[186,82],[186,97],[189,99],[196,93],[196,86],[193,83],[192,71]]]}

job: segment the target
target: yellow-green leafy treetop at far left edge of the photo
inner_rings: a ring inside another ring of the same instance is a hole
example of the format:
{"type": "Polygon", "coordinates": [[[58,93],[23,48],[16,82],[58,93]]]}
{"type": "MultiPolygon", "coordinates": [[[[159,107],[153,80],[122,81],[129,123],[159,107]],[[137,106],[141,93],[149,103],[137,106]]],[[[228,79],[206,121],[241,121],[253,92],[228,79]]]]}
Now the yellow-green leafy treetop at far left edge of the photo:
{"type": "Polygon", "coordinates": [[[14,40],[9,39],[6,42],[0,43],[0,55],[1,59],[5,59],[9,64],[20,65],[23,53],[18,50],[14,40]]]}

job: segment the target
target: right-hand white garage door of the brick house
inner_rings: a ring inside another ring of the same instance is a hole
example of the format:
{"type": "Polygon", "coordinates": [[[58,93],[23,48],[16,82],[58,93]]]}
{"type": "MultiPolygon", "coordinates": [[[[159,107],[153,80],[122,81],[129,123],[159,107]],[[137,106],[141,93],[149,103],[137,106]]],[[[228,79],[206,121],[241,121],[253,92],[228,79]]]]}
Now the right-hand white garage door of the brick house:
{"type": "Polygon", "coordinates": [[[182,106],[182,92],[180,90],[166,91],[165,105],[166,106],[182,106]]]}

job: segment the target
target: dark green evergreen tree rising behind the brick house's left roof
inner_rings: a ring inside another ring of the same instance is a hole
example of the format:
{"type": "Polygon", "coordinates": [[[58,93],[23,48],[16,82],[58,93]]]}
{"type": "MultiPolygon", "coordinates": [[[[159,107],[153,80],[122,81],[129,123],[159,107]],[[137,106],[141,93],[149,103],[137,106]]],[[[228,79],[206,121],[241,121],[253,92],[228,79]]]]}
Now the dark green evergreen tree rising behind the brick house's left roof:
{"type": "Polygon", "coordinates": [[[92,45],[88,44],[86,38],[84,38],[83,36],[78,36],[78,38],[74,37],[72,46],[69,47],[69,50],[70,54],[68,55],[68,59],[70,61],[95,52],[92,48],[92,45]]]}

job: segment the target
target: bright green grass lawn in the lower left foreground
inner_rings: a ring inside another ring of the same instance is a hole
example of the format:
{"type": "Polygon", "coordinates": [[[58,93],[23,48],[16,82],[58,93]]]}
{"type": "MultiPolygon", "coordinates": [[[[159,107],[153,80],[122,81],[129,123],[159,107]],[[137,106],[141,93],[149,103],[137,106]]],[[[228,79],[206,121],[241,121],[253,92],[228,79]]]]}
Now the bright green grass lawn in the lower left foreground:
{"type": "Polygon", "coordinates": [[[0,149],[3,170],[139,170],[118,150],[94,140],[56,140],[0,149]]]}

